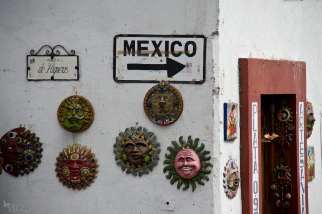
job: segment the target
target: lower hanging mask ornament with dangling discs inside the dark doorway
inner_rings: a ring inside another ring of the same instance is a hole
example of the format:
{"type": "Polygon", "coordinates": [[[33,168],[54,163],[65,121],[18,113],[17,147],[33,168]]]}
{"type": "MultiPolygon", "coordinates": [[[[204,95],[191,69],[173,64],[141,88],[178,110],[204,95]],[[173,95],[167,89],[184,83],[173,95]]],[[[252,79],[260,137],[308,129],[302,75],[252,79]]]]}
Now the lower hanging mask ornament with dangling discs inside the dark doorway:
{"type": "MultiPolygon", "coordinates": [[[[283,162],[283,160],[280,160],[280,162],[283,162]]],[[[276,200],[276,206],[281,207],[282,212],[290,206],[289,200],[291,194],[289,191],[292,189],[290,171],[291,169],[288,166],[283,166],[282,164],[277,165],[274,168],[274,183],[270,186],[274,192],[273,197],[276,200]]]]}

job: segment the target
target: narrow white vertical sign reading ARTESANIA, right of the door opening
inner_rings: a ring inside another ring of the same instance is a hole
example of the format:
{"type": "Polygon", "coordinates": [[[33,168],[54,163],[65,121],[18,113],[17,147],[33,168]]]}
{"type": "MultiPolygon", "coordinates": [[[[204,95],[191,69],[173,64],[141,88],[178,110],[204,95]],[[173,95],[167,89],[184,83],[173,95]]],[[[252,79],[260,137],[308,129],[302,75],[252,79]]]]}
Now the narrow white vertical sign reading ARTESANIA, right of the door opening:
{"type": "Polygon", "coordinates": [[[306,198],[305,198],[305,151],[304,151],[304,102],[299,102],[299,161],[300,161],[300,209],[301,214],[306,214],[306,198]]]}

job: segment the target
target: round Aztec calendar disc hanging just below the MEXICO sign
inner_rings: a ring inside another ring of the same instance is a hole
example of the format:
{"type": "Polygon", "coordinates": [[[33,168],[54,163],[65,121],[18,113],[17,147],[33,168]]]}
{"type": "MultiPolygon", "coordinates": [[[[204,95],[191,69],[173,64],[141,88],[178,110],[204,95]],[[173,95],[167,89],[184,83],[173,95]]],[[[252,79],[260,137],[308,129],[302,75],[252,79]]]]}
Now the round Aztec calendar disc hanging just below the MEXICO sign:
{"type": "Polygon", "coordinates": [[[147,92],[143,106],[151,121],[159,125],[169,125],[181,115],[183,101],[176,88],[162,81],[147,92]]]}

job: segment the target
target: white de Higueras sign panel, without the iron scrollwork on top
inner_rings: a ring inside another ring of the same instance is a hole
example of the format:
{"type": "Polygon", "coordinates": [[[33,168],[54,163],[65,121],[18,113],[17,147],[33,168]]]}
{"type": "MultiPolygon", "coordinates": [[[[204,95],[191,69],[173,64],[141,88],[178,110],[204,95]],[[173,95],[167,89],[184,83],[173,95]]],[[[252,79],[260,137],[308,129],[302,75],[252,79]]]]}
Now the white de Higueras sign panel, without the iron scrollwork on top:
{"type": "Polygon", "coordinates": [[[78,80],[78,56],[27,56],[28,80],[78,80]]]}

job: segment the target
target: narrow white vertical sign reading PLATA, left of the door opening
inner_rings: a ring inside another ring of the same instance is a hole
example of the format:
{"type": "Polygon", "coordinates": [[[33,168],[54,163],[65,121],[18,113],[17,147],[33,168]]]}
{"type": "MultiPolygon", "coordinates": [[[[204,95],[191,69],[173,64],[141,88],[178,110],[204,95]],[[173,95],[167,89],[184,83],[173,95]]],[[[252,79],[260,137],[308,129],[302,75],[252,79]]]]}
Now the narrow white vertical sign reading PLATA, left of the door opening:
{"type": "Polygon", "coordinates": [[[252,153],[253,153],[253,214],[260,213],[258,168],[258,104],[252,103],[252,153]]]}

